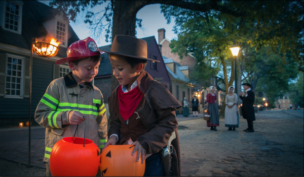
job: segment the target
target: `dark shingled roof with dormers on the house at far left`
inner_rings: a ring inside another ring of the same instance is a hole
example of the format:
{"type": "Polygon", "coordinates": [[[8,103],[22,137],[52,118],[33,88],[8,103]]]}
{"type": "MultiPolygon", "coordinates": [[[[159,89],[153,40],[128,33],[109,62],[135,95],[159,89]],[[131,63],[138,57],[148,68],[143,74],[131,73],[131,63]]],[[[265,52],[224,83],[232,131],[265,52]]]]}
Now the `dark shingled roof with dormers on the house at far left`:
{"type": "MultiPolygon", "coordinates": [[[[9,44],[21,48],[31,49],[31,40],[33,37],[39,38],[47,36],[48,32],[45,29],[43,22],[46,19],[55,17],[55,10],[38,1],[22,1],[22,31],[21,34],[16,34],[11,31],[4,30],[0,27],[0,41],[4,44],[9,44]]],[[[77,34],[72,27],[68,25],[67,46],[79,40],[77,34]]],[[[56,56],[66,57],[67,48],[59,46],[56,56]]]]}

